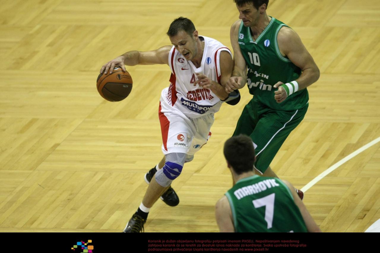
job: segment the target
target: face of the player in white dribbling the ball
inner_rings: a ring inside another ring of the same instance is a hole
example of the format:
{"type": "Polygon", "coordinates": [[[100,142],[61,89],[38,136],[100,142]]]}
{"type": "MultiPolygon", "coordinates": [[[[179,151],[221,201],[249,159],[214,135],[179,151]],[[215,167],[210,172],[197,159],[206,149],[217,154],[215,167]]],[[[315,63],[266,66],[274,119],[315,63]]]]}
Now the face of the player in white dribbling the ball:
{"type": "Polygon", "coordinates": [[[186,60],[192,60],[198,52],[196,38],[198,38],[198,32],[194,32],[193,36],[190,36],[185,31],[180,31],[177,35],[169,37],[171,44],[182,54],[186,60]]]}

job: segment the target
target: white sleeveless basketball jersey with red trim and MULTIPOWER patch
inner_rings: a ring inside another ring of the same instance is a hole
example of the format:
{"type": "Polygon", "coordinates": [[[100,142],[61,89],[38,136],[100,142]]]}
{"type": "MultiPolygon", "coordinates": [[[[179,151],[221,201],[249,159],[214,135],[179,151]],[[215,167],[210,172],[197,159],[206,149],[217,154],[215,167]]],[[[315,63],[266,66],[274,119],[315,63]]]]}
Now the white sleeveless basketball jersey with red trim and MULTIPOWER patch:
{"type": "Polygon", "coordinates": [[[179,109],[189,118],[219,111],[222,101],[210,89],[194,85],[194,82],[197,80],[196,73],[201,73],[210,80],[220,83],[220,52],[228,51],[231,54],[231,51],[219,41],[205,36],[199,38],[204,38],[203,57],[199,68],[196,68],[191,61],[187,61],[174,46],[170,50],[171,84],[162,94],[166,98],[166,103],[179,109]]]}

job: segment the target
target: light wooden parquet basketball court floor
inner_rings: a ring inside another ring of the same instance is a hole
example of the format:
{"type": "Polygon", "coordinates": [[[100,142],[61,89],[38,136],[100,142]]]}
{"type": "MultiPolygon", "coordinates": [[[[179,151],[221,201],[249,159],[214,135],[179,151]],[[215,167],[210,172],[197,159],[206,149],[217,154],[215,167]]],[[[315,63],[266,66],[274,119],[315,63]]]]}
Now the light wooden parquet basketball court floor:
{"type": "MultiPolygon", "coordinates": [[[[310,106],[272,161],[302,188],[380,137],[380,3],[270,0],[320,68],[310,106]]],[[[122,231],[162,157],[164,65],[127,67],[133,90],[103,100],[101,66],[130,50],[170,44],[185,16],[201,35],[230,47],[232,0],[2,0],[0,5],[0,231],[122,231]]],[[[222,154],[251,96],[215,114],[212,137],[173,182],[177,207],[158,201],[147,232],[215,232],[215,202],[231,187],[222,154]],[[169,215],[163,215],[163,213],[169,215]]],[[[380,143],[337,167],[305,193],[322,231],[364,232],[380,219],[380,143]]]]}

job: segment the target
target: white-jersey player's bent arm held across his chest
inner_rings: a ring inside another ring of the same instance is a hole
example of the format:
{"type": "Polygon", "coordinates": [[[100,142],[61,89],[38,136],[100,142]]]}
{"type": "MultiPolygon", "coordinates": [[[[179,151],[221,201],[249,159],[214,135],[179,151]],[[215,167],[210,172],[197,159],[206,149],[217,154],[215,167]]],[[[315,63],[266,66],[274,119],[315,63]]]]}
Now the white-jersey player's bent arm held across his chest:
{"type": "MultiPolygon", "coordinates": [[[[219,63],[220,63],[220,84],[223,85],[231,76],[232,68],[233,68],[233,60],[231,57],[231,54],[227,51],[220,52],[219,57],[219,63]]],[[[225,88],[220,85],[219,83],[210,80],[207,76],[204,74],[196,74],[197,80],[194,82],[194,84],[198,84],[204,89],[210,89],[215,95],[220,98],[220,100],[226,100],[228,98],[228,93],[226,92],[225,88]]]]}

